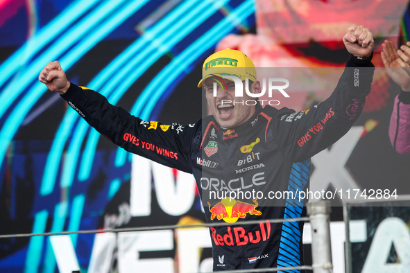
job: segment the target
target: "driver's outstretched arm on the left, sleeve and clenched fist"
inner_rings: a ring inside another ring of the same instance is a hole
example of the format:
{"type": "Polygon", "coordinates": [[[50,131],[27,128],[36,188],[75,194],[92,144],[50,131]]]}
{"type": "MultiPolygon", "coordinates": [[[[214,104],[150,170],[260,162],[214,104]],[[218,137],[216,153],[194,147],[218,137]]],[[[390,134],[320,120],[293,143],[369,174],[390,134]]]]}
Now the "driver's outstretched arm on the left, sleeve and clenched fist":
{"type": "Polygon", "coordinates": [[[59,62],[47,64],[39,80],[60,94],[89,125],[113,143],[165,166],[191,173],[191,151],[198,146],[194,138],[200,135],[200,123],[163,125],[143,121],[111,105],[98,92],[70,83],[59,62]]]}

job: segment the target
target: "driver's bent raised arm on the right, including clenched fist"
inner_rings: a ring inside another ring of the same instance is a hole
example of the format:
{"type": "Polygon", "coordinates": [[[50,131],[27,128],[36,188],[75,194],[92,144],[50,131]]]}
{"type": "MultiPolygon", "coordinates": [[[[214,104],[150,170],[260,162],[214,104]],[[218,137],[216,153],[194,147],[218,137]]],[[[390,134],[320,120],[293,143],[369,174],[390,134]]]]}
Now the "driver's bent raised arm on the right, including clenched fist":
{"type": "Polygon", "coordinates": [[[281,109],[273,123],[282,152],[292,161],[308,159],[339,140],[364,107],[373,81],[373,35],[364,26],[350,26],[343,42],[351,58],[332,95],[307,111],[281,109]]]}

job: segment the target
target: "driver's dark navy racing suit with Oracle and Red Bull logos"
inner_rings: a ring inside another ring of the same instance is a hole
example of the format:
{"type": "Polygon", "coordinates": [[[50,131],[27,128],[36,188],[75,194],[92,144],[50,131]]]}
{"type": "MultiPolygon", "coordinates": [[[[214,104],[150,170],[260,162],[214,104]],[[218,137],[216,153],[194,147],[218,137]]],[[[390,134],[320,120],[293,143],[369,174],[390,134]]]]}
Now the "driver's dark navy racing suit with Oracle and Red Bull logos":
{"type": "Polygon", "coordinates": [[[221,128],[212,116],[191,125],[142,121],[74,84],[62,97],[118,146],[194,174],[207,222],[232,223],[210,228],[214,270],[288,267],[303,264],[303,222],[273,224],[267,219],[305,215],[305,200],[299,200],[298,193],[309,183],[309,158],[355,123],[370,91],[373,70],[370,61],[359,65],[351,59],[325,102],[298,113],[257,106],[250,120],[230,130],[221,128]],[[279,191],[294,195],[268,197],[269,192],[279,191]],[[237,195],[231,199],[222,195],[233,192],[237,195]],[[263,197],[255,197],[256,192],[263,197]],[[235,224],[244,220],[262,222],[235,224]]]}

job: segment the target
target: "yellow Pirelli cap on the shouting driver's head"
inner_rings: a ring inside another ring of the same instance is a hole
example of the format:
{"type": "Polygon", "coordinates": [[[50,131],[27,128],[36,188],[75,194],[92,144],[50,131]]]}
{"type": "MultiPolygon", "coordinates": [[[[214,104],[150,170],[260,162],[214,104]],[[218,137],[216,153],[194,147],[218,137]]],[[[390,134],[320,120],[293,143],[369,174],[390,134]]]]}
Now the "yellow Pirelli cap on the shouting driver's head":
{"type": "Polygon", "coordinates": [[[203,63],[202,79],[198,87],[212,76],[237,76],[241,80],[249,78],[256,82],[256,69],[252,60],[241,51],[223,49],[210,55],[203,63]]]}

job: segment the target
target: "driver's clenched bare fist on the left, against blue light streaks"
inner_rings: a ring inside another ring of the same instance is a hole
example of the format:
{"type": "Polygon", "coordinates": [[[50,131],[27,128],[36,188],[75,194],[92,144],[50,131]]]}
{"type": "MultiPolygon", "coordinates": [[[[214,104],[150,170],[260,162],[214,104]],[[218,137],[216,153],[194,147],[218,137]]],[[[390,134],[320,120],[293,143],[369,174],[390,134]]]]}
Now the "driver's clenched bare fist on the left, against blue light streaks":
{"type": "Polygon", "coordinates": [[[61,69],[60,62],[49,62],[41,71],[38,80],[44,83],[46,87],[53,92],[62,95],[65,94],[70,87],[70,82],[65,76],[65,72],[61,69]]]}

